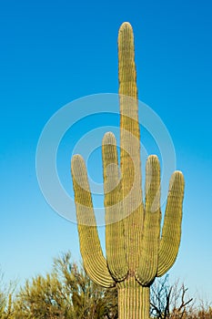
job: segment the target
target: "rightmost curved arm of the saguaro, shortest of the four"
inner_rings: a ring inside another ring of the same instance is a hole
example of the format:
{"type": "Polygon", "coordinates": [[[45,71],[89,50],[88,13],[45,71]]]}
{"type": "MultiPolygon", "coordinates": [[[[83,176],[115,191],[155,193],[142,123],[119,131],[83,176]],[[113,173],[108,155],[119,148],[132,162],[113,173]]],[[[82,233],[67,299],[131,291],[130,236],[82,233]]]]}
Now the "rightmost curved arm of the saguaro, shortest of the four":
{"type": "Polygon", "coordinates": [[[184,198],[184,177],[175,171],[169,182],[167,207],[160,240],[157,276],[167,273],[177,258],[181,237],[182,207],[184,198]]]}

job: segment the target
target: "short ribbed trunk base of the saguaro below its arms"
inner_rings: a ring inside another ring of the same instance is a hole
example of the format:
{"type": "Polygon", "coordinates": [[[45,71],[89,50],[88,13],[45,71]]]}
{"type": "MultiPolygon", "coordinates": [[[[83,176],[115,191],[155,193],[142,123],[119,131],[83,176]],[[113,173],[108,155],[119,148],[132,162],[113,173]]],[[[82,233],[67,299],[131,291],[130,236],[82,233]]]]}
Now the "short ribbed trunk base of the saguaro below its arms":
{"type": "Polygon", "coordinates": [[[148,318],[149,287],[134,283],[134,286],[118,288],[118,319],[148,318]]]}

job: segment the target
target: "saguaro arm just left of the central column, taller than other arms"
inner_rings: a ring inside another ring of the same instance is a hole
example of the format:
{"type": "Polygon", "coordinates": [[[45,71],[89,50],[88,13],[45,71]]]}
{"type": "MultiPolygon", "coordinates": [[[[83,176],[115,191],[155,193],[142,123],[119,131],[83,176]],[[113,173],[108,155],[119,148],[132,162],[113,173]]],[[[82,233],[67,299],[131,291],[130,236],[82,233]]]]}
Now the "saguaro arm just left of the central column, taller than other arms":
{"type": "Polygon", "coordinates": [[[116,282],[126,278],[125,237],[123,225],[123,207],[119,182],[116,138],[106,133],[102,142],[105,208],[106,208],[106,260],[108,268],[116,282]]]}

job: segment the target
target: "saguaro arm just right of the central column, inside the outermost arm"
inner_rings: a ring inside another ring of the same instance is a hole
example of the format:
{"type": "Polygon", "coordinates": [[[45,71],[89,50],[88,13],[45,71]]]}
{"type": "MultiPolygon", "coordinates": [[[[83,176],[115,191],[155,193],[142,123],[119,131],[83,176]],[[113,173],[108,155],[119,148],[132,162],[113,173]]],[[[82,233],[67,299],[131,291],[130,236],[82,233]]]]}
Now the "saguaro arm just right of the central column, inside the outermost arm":
{"type": "Polygon", "coordinates": [[[148,285],[156,277],[160,240],[160,163],[156,155],[146,161],[146,202],[143,241],[136,280],[148,285]]]}

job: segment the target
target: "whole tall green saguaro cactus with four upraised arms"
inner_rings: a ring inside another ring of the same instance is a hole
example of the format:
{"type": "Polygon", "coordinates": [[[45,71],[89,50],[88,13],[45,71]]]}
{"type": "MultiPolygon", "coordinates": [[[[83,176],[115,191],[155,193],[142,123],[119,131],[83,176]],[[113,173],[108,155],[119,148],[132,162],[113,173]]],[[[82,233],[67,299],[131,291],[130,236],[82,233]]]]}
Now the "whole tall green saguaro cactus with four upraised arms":
{"type": "Polygon", "coordinates": [[[149,318],[149,287],[156,276],[176,260],[182,219],[184,178],[175,171],[170,179],[167,208],[160,233],[160,165],[155,155],[146,160],[145,203],[142,201],[140,132],[132,27],[124,23],[118,34],[120,95],[120,171],[115,136],[103,139],[106,209],[106,258],[101,249],[89,190],[86,165],[73,157],[80,250],[86,273],[104,287],[118,290],[119,318],[149,318]]]}

